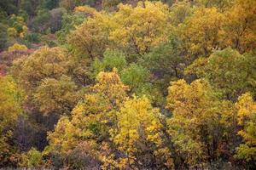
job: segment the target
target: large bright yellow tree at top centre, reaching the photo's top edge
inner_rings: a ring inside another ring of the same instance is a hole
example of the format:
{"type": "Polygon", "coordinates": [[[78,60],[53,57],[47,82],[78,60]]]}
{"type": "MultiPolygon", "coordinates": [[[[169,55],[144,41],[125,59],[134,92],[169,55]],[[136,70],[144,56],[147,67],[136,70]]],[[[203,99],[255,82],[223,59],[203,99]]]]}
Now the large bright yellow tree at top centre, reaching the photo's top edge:
{"type": "Polygon", "coordinates": [[[110,40],[130,53],[142,55],[168,40],[171,25],[168,6],[163,3],[139,2],[135,8],[120,4],[113,20],[116,26],[110,40]]]}

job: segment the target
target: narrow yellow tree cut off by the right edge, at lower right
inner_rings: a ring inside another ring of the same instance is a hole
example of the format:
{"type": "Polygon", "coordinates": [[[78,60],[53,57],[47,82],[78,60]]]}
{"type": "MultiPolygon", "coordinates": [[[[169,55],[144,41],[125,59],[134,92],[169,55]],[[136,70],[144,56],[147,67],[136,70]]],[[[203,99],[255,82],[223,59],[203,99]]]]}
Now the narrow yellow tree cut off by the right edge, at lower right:
{"type": "MultiPolygon", "coordinates": [[[[243,144],[236,148],[236,157],[248,162],[256,161],[256,102],[250,94],[243,94],[236,103],[238,134],[243,144]]],[[[255,165],[255,164],[254,164],[255,165]]]]}

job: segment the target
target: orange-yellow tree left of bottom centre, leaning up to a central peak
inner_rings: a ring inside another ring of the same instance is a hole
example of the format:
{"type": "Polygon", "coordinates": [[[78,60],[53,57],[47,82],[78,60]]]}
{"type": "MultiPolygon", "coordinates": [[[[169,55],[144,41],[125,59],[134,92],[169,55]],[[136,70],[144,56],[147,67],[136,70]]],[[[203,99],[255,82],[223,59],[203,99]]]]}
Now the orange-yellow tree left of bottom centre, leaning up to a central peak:
{"type": "Polygon", "coordinates": [[[61,118],[55,131],[49,133],[49,146],[45,154],[52,156],[53,161],[55,156],[60,156],[63,167],[81,168],[79,166],[86,157],[90,157],[88,159],[91,161],[102,161],[101,145],[109,141],[108,130],[116,122],[114,110],[118,111],[126,99],[126,91],[127,87],[116,71],[101,72],[97,83],[86,91],[83,100],[73,109],[70,120],[61,118]],[[83,145],[90,150],[81,149],[83,145]],[[67,161],[66,158],[73,155],[78,155],[79,159],[67,161]]]}

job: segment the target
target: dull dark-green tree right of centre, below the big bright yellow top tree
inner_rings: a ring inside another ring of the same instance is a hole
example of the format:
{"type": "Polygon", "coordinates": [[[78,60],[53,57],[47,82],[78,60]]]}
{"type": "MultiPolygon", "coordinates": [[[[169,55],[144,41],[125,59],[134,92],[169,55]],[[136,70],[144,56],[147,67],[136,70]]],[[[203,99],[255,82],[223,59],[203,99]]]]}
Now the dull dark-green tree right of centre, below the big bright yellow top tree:
{"type": "Polygon", "coordinates": [[[183,78],[187,64],[180,44],[177,38],[172,37],[169,42],[153,48],[143,57],[143,65],[154,75],[154,83],[160,87],[162,94],[167,93],[169,82],[183,78]]]}

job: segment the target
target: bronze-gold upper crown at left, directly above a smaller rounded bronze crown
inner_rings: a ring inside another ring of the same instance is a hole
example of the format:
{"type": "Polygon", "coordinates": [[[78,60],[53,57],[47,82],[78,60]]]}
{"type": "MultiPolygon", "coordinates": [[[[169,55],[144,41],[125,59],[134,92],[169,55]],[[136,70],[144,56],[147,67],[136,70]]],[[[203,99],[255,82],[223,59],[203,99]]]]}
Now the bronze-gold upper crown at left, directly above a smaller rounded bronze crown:
{"type": "Polygon", "coordinates": [[[59,78],[68,71],[67,51],[63,48],[43,47],[26,58],[15,61],[12,75],[32,92],[44,78],[59,78]]]}

